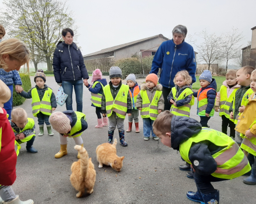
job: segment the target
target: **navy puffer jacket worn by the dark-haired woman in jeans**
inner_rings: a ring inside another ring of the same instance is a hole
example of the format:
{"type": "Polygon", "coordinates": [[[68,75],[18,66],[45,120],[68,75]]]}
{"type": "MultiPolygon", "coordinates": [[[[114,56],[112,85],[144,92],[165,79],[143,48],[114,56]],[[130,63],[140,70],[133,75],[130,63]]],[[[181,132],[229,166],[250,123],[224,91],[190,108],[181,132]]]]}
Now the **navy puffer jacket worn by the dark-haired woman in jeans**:
{"type": "Polygon", "coordinates": [[[88,79],[89,75],[84,65],[83,55],[76,43],[67,45],[60,41],[54,51],[54,77],[57,83],[88,79]]]}

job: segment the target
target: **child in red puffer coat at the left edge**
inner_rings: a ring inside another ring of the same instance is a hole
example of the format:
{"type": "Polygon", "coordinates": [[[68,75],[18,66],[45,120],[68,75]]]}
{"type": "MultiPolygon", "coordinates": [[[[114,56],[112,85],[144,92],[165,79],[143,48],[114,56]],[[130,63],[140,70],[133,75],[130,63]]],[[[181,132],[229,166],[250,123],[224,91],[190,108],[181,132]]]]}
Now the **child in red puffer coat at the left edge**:
{"type": "MultiPolygon", "coordinates": [[[[16,180],[17,154],[15,152],[15,135],[8,121],[3,104],[9,101],[10,89],[0,80],[0,203],[22,203],[19,195],[15,195],[12,184],[16,180]]],[[[26,201],[34,203],[32,200],[26,201]]]]}

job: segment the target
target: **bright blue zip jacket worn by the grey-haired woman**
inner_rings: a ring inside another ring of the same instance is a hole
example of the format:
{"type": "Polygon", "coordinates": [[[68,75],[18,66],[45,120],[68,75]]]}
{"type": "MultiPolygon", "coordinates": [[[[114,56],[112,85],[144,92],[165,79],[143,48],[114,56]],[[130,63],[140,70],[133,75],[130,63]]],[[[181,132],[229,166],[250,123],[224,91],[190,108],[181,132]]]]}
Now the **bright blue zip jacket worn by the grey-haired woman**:
{"type": "Polygon", "coordinates": [[[159,68],[159,83],[166,88],[175,86],[173,79],[177,72],[182,70],[189,72],[194,83],[196,64],[193,47],[184,41],[180,45],[175,45],[172,39],[162,42],[155,53],[150,73],[157,74],[159,68]]]}

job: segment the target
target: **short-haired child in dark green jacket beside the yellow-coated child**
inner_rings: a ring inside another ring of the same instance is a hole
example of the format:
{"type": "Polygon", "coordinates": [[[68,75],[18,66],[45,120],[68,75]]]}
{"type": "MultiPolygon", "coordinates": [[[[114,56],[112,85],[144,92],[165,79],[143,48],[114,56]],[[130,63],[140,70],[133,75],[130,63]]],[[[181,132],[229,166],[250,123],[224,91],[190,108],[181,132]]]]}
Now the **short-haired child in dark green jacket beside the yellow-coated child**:
{"type": "MultiPolygon", "coordinates": [[[[251,83],[251,72],[255,70],[254,67],[245,66],[240,68],[236,72],[236,80],[240,85],[240,89],[237,90],[234,95],[234,99],[229,107],[230,119],[234,121],[234,124],[237,124],[237,120],[241,115],[241,112],[244,111],[245,105],[248,103],[248,98],[253,94],[253,90],[250,89],[251,83]]],[[[235,141],[240,146],[243,139],[240,137],[240,133],[236,132],[235,141]]]]}

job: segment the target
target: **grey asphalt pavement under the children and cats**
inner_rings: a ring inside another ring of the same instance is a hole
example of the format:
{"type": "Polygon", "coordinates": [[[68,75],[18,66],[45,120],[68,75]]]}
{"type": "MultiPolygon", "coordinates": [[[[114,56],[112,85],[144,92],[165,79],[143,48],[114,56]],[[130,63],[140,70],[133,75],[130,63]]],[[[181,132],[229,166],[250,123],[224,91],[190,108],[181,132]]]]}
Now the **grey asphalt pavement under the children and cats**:
{"type": "MultiPolygon", "coordinates": [[[[106,77],[109,81],[108,77],[106,77]]],[[[142,81],[141,79],[138,81],[142,81]]],[[[32,86],[34,78],[31,77],[32,86]]],[[[47,77],[47,85],[58,90],[54,77],[47,77]]],[[[13,189],[24,201],[33,199],[38,203],[195,203],[186,198],[187,191],[196,191],[193,179],[186,177],[186,172],[180,171],[178,166],[183,164],[177,151],[166,147],[159,141],[143,140],[143,122],[140,118],[140,133],[126,133],[128,147],[116,146],[118,156],[125,156],[123,169],[117,173],[109,166],[98,167],[95,150],[97,145],[105,143],[108,139],[108,128],[95,129],[97,116],[95,108],[91,107],[90,92],[84,87],[84,107],[88,129],[82,134],[84,146],[95,165],[97,172],[93,194],[76,198],[69,181],[70,166],[77,161],[77,151],[74,150],[74,141],[69,139],[66,156],[55,159],[59,151],[59,137],[44,134],[35,139],[34,147],[37,154],[26,152],[26,145],[22,145],[17,159],[17,179],[13,189]]],[[[31,99],[26,100],[20,107],[24,108],[29,117],[31,114],[31,99]]],[[[76,110],[75,105],[73,105],[76,110]]],[[[65,107],[56,110],[64,111],[65,107]]],[[[195,105],[191,110],[191,117],[195,115],[195,105]]],[[[34,118],[37,123],[37,118],[34,118]]],[[[125,128],[128,121],[125,120],[125,128]]],[[[215,116],[209,120],[211,128],[221,130],[221,117],[215,116]]],[[[45,132],[47,129],[45,128],[45,132]]],[[[38,126],[35,132],[38,134],[38,126]]],[[[118,138],[117,131],[115,137],[118,138]]],[[[221,203],[256,203],[256,185],[243,184],[243,176],[230,181],[214,184],[221,191],[221,203]]]]}

